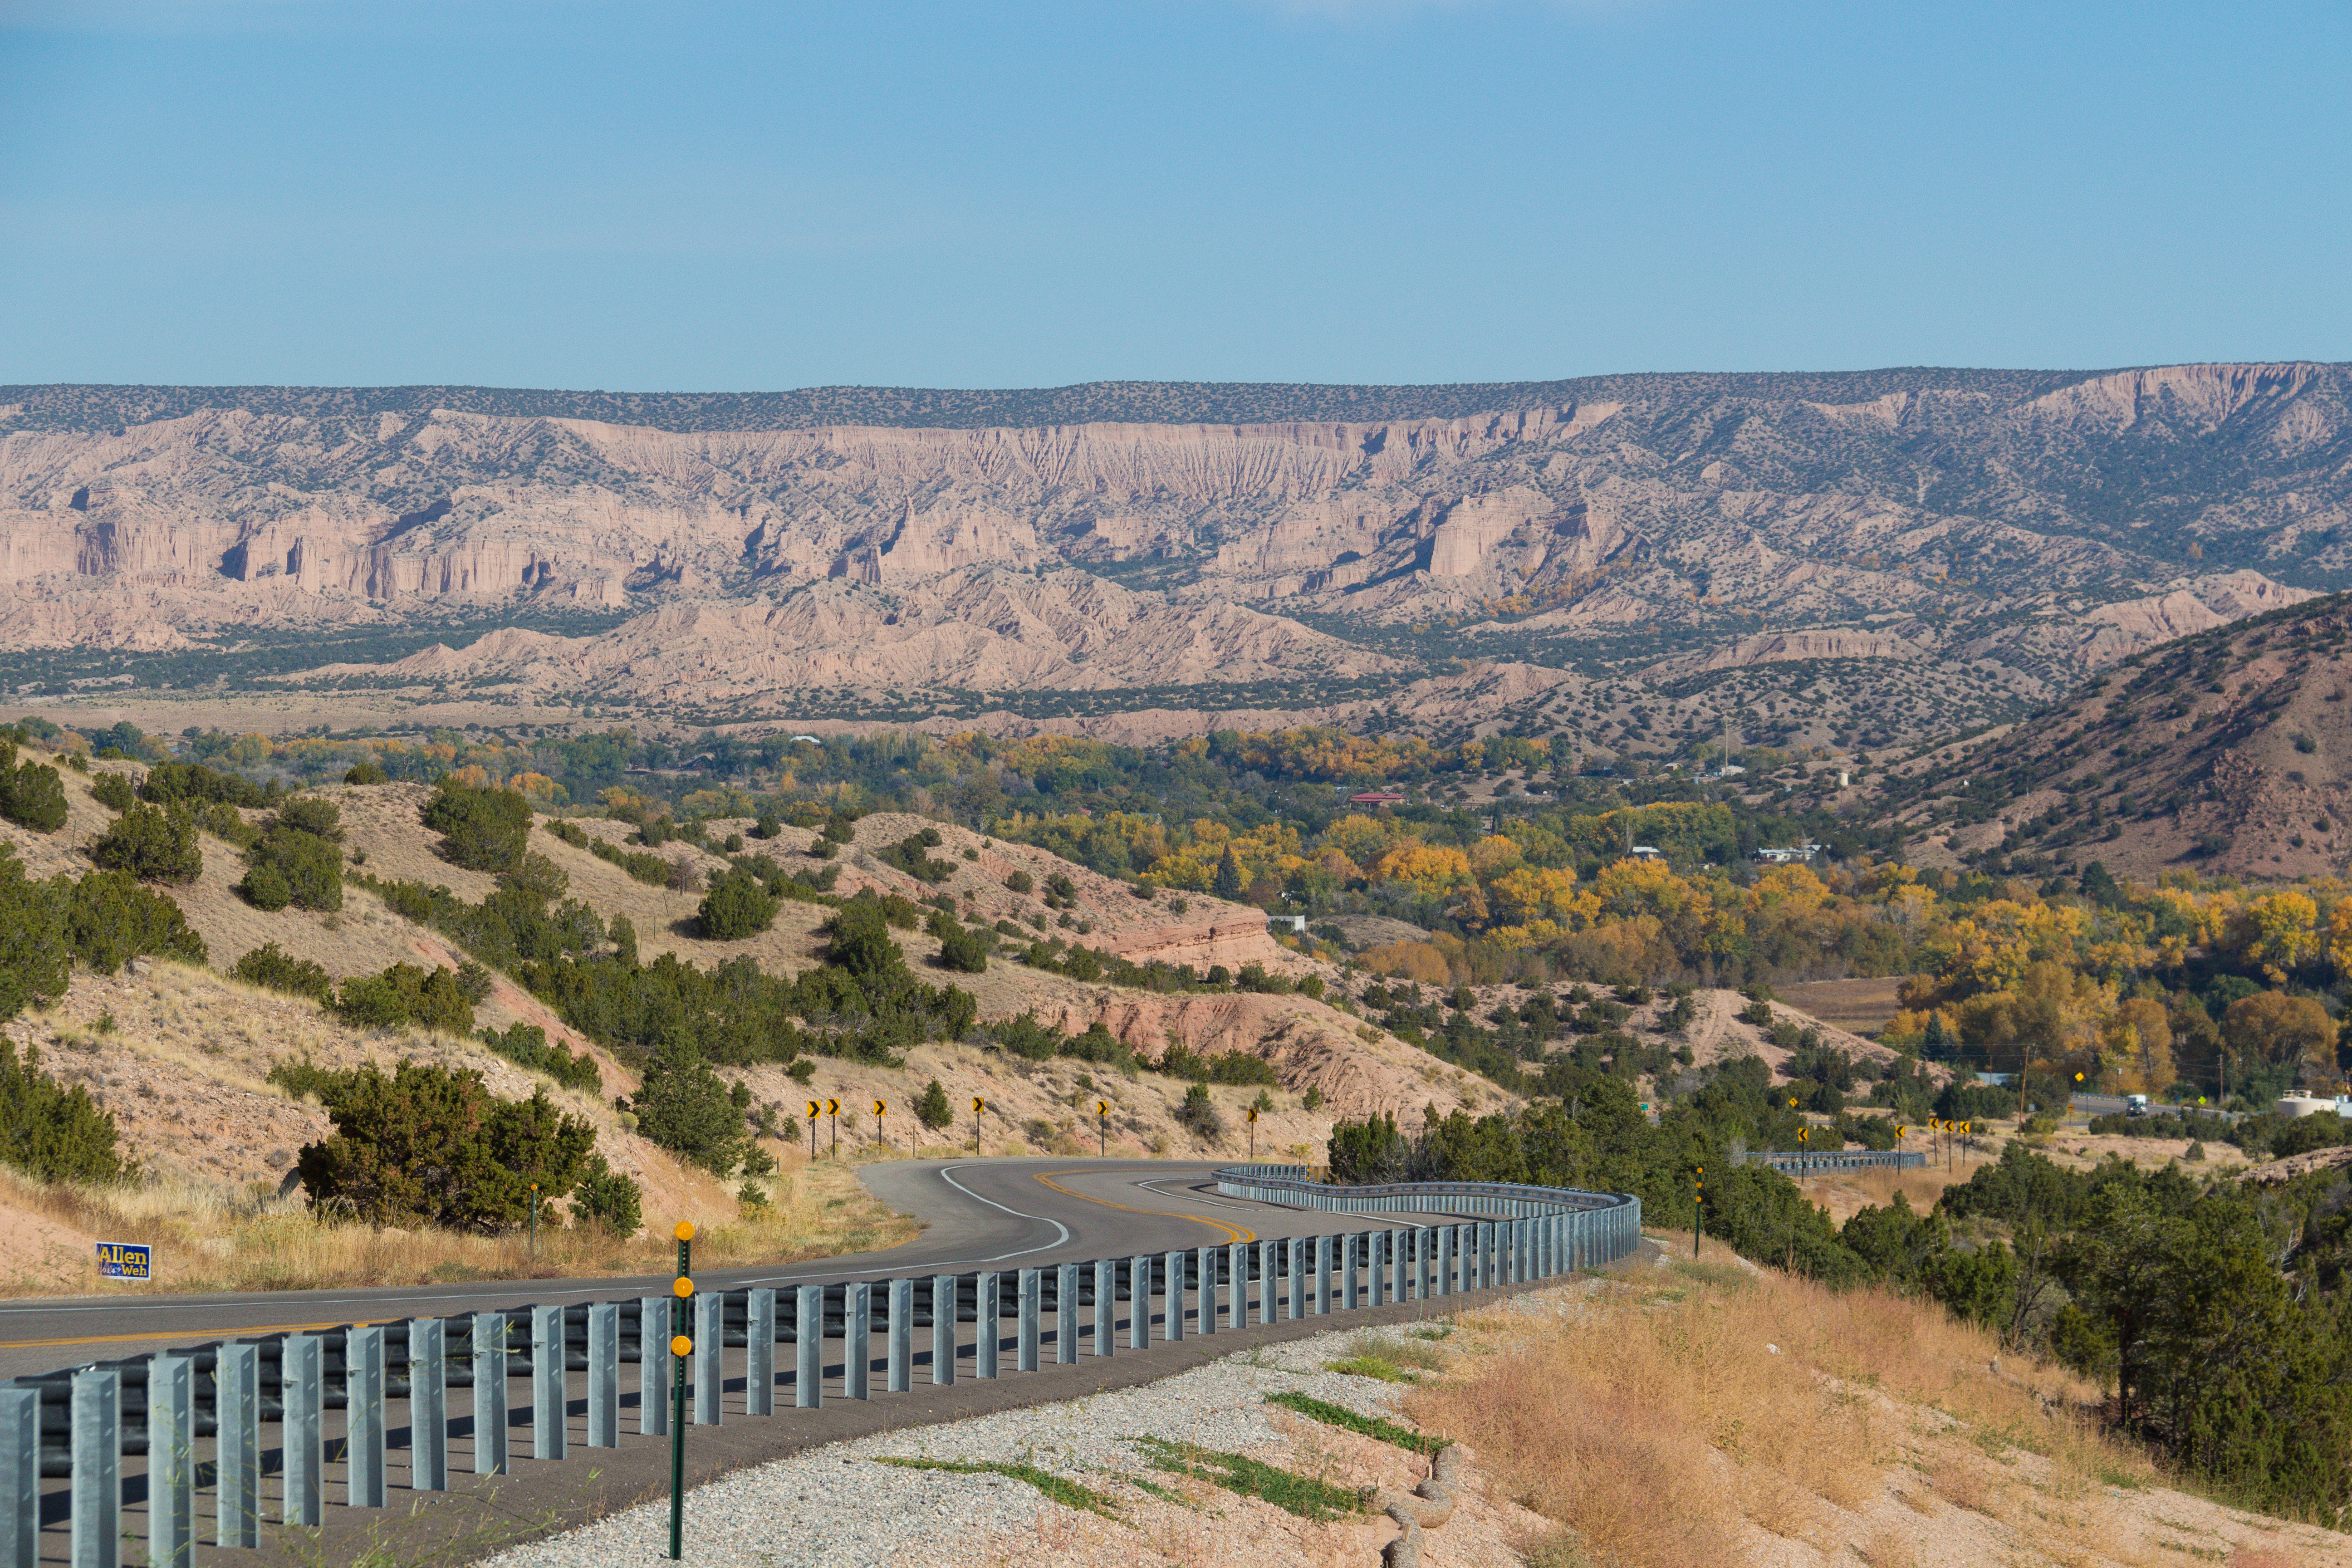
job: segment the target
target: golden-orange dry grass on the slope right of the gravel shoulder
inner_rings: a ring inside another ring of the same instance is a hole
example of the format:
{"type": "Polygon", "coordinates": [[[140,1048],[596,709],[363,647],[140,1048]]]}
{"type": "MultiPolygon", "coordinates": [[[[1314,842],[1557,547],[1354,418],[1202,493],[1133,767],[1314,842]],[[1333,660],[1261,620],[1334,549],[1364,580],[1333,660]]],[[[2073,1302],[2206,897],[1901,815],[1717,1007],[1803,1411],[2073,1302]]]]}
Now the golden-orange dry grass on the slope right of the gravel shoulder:
{"type": "Polygon", "coordinates": [[[1999,1507],[1980,1453],[2044,1455],[2053,1493],[2152,1474],[2072,1415],[2091,1389],[2051,1373],[2034,1378],[2037,1396],[1992,1371],[1987,1335],[1936,1307],[1771,1272],[1677,1267],[1672,1284],[1597,1286],[1566,1333],[1479,1319],[1479,1354],[1416,1389],[1409,1410],[1468,1441],[1595,1559],[1628,1568],[1729,1566],[1745,1561],[1748,1526],[1806,1540],[1823,1505],[1884,1497],[1912,1439],[1905,1406],[1943,1413],[1936,1425],[1973,1443],[1957,1458],[1933,1443],[1936,1490],[1978,1512],[1999,1507]]]}

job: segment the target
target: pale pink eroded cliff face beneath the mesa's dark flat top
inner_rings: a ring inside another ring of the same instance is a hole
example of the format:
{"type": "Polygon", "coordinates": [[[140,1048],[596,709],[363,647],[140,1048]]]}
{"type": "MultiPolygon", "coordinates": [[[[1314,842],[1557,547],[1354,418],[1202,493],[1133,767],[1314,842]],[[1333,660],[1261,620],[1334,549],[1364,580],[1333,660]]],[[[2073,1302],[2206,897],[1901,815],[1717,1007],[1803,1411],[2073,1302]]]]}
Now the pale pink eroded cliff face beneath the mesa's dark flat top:
{"type": "MultiPolygon", "coordinates": [[[[661,698],[1383,675],[1395,644],[1334,628],[1444,621],[1538,654],[1715,644],[1677,677],[1964,656],[2058,689],[2284,604],[2281,581],[2352,576],[2345,367],[1917,378],[1856,402],[1684,376],[1456,418],[1035,428],[673,430],[259,395],[33,428],[12,404],[0,639],[640,611],[522,663],[548,689],[661,698]]],[[[517,658],[442,663],[510,679],[517,658]]]]}

